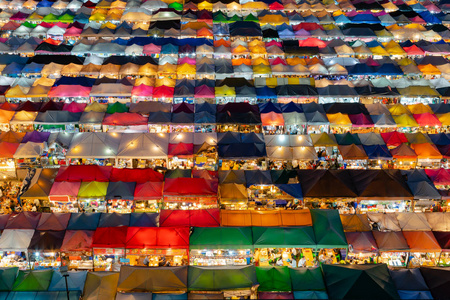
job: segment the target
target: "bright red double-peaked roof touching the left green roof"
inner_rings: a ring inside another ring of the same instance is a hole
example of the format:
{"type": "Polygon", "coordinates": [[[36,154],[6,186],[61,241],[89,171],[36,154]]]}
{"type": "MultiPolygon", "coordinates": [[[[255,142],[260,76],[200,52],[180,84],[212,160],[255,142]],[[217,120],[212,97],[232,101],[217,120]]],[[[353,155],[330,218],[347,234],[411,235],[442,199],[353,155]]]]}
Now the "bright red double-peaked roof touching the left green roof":
{"type": "Polygon", "coordinates": [[[188,249],[189,227],[129,227],[127,249],[188,249]]]}

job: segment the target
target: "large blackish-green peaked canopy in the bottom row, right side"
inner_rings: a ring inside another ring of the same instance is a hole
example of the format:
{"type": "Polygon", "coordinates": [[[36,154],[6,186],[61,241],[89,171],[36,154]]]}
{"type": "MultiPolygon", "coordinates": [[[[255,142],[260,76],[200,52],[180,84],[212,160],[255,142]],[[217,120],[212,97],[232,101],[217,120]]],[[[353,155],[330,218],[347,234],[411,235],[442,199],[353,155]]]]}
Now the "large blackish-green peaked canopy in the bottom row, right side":
{"type": "Polygon", "coordinates": [[[322,266],[330,299],[398,299],[385,264],[322,266]]]}

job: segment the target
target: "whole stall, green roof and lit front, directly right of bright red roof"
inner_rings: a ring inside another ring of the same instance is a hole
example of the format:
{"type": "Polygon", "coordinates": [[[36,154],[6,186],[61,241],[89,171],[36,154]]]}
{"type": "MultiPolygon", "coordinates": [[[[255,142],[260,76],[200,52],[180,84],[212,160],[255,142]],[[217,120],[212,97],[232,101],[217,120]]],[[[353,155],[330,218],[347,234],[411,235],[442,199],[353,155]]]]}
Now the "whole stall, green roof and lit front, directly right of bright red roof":
{"type": "Polygon", "coordinates": [[[250,265],[253,241],[250,227],[195,227],[189,239],[189,265],[250,265]]]}

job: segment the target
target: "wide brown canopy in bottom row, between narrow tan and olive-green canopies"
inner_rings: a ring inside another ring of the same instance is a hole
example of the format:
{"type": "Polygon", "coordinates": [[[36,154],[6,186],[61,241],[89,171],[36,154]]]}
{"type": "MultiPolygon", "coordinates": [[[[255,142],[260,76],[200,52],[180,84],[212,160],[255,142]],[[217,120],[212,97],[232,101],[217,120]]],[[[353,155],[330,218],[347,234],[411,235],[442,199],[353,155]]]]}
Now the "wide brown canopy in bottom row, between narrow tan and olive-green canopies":
{"type": "Polygon", "coordinates": [[[187,289],[187,281],[187,266],[160,268],[122,266],[117,290],[121,292],[181,292],[187,289]]]}

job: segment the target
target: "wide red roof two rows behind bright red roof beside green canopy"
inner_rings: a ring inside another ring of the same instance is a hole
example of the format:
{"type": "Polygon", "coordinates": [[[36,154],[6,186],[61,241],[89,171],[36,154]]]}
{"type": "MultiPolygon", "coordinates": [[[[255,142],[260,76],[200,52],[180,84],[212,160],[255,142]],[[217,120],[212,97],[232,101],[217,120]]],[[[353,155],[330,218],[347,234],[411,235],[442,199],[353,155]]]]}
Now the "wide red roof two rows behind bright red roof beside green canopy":
{"type": "Polygon", "coordinates": [[[203,178],[166,178],[164,196],[217,196],[217,186],[203,178]]]}

